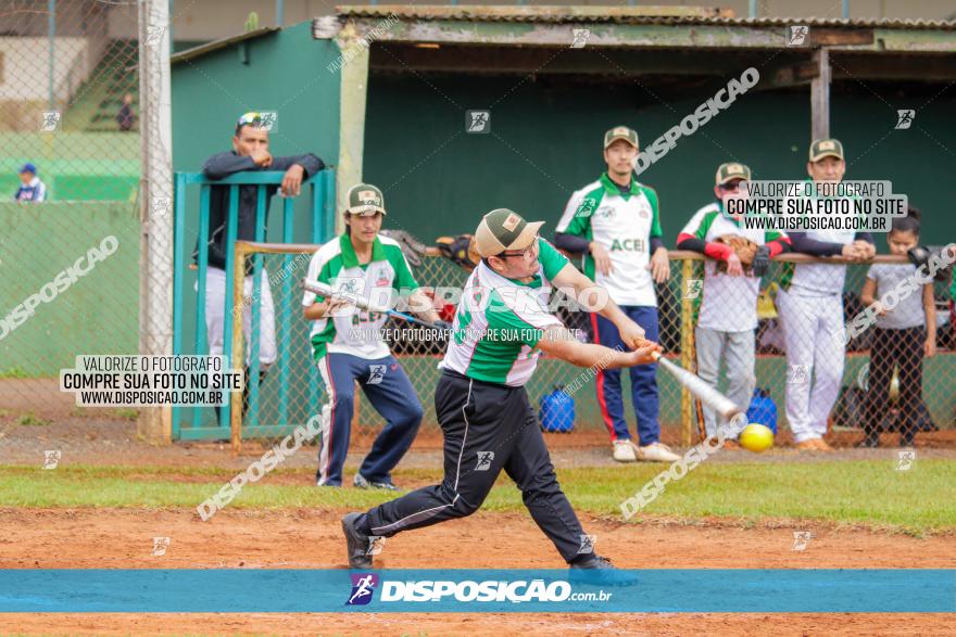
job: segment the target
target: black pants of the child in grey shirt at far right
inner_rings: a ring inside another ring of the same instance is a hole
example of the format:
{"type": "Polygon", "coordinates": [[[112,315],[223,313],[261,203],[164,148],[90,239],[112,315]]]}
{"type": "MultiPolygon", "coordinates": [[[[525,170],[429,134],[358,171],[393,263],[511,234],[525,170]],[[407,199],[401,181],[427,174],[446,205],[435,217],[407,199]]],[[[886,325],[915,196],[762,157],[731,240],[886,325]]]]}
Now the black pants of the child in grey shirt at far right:
{"type": "Polygon", "coordinates": [[[890,383],[893,368],[900,366],[900,433],[909,442],[927,418],[922,402],[922,344],[926,328],[885,330],[876,328],[870,344],[870,372],[867,391],[867,418],[864,430],[878,435],[880,422],[890,410],[890,383]]]}

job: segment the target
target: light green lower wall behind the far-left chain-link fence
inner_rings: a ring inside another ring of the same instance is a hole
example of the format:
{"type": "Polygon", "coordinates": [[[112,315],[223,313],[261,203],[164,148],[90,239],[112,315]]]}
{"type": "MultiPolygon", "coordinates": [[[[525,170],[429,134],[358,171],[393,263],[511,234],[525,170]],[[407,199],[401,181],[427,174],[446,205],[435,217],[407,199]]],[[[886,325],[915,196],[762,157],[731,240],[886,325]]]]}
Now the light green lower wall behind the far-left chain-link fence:
{"type": "MultiPolygon", "coordinates": [[[[2,315],[113,235],[115,253],[7,332],[0,374],[56,377],[78,354],[136,354],[139,334],[139,216],[113,202],[0,203],[2,315]]],[[[86,262],[80,267],[89,267],[86,262]]],[[[49,295],[49,292],[48,292],[49,295]]]]}

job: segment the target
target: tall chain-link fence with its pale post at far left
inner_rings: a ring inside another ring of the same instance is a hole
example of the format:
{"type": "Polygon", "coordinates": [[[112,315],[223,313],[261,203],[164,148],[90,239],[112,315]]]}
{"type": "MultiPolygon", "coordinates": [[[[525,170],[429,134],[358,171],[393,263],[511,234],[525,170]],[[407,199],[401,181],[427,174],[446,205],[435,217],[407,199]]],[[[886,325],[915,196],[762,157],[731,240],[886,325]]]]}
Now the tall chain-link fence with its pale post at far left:
{"type": "Polygon", "coordinates": [[[168,4],[14,0],[0,25],[0,421],[140,417],[159,437],[160,409],[78,408],[59,371],[169,353],[168,4]]]}

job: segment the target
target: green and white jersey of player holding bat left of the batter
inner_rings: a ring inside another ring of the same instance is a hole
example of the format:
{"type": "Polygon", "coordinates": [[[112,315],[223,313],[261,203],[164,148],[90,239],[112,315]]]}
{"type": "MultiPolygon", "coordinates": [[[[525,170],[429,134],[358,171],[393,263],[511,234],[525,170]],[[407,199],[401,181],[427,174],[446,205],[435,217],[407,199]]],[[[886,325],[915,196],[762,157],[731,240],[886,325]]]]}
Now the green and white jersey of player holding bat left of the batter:
{"type": "MultiPolygon", "coordinates": [[[[360,264],[348,234],[332,239],[318,249],[309,262],[310,281],[328,283],[335,290],[360,295],[376,306],[390,306],[395,293],[407,294],[418,288],[408,262],[399,243],[388,237],[376,237],[372,260],[360,264]]],[[[302,305],[311,307],[325,301],[314,292],[305,292],[302,305]]],[[[315,360],[326,353],[351,354],[361,358],[383,358],[389,355],[381,329],[388,317],[382,313],[353,308],[345,316],[325,317],[313,321],[312,348],[315,360]]]]}

